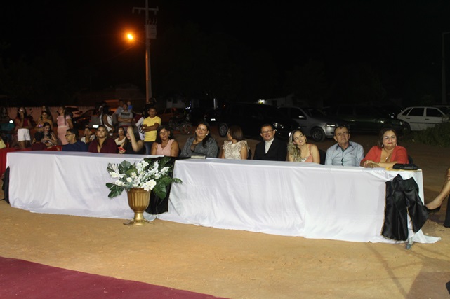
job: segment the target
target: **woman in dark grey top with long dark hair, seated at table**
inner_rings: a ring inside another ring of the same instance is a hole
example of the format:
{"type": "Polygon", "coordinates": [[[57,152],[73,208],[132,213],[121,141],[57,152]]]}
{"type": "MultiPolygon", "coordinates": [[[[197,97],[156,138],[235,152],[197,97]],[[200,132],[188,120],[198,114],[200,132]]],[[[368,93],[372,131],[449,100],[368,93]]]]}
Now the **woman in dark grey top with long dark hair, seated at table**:
{"type": "Polygon", "coordinates": [[[209,134],[209,124],[201,121],[195,129],[194,137],[189,137],[183,146],[180,157],[190,158],[194,154],[206,155],[208,158],[217,158],[218,145],[209,134]]]}

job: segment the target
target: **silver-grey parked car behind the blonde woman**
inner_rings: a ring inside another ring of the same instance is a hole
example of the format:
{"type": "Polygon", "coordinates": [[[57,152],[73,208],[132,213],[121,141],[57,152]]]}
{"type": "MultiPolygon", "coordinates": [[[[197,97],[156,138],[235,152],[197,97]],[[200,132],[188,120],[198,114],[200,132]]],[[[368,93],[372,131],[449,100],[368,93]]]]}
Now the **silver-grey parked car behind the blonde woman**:
{"type": "Polygon", "coordinates": [[[324,141],[326,137],[332,138],[336,127],[346,125],[345,121],[331,116],[327,117],[314,108],[282,106],[278,110],[295,120],[306,136],[311,137],[314,141],[324,141]]]}

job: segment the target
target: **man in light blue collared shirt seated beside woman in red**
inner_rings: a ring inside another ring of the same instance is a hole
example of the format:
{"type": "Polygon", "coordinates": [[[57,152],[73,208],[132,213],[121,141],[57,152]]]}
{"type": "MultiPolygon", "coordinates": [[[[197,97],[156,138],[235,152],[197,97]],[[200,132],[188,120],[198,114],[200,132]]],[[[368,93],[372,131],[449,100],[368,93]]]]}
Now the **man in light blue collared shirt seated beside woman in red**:
{"type": "Polygon", "coordinates": [[[347,127],[336,127],[333,138],[338,143],[326,150],[325,165],[359,166],[364,159],[364,149],[361,144],[350,141],[347,127]]]}

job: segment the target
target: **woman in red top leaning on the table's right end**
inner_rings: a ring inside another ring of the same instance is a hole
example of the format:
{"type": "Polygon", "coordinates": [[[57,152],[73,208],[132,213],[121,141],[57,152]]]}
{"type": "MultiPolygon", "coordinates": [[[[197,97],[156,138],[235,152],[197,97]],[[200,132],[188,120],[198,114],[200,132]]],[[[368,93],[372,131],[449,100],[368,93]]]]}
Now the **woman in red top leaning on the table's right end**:
{"type": "Polygon", "coordinates": [[[370,149],[360,165],[366,168],[391,168],[397,163],[407,164],[408,153],[406,153],[406,148],[397,144],[395,130],[384,128],[378,135],[378,144],[370,149]]]}

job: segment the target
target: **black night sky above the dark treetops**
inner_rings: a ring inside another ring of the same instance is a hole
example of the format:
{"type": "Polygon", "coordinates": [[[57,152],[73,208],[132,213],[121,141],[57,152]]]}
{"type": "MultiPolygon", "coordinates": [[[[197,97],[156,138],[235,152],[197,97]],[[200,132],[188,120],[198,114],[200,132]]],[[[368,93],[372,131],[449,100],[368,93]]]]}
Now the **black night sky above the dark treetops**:
{"type": "MultiPolygon", "coordinates": [[[[266,2],[150,0],[149,6],[159,7],[158,36],[192,22],[205,34],[225,32],[250,48],[267,49],[281,71],[320,60],[330,72],[340,64],[364,62],[400,77],[416,69],[441,74],[441,34],[450,32],[450,1],[266,2]]],[[[0,42],[11,44],[4,56],[25,53],[32,59],[55,48],[72,69],[95,67],[106,81],[114,73],[145,81],[144,46],[129,48],[122,37],[126,29],[143,32],[144,14],[132,8],[144,7],[145,0],[2,6],[0,42]]]]}

